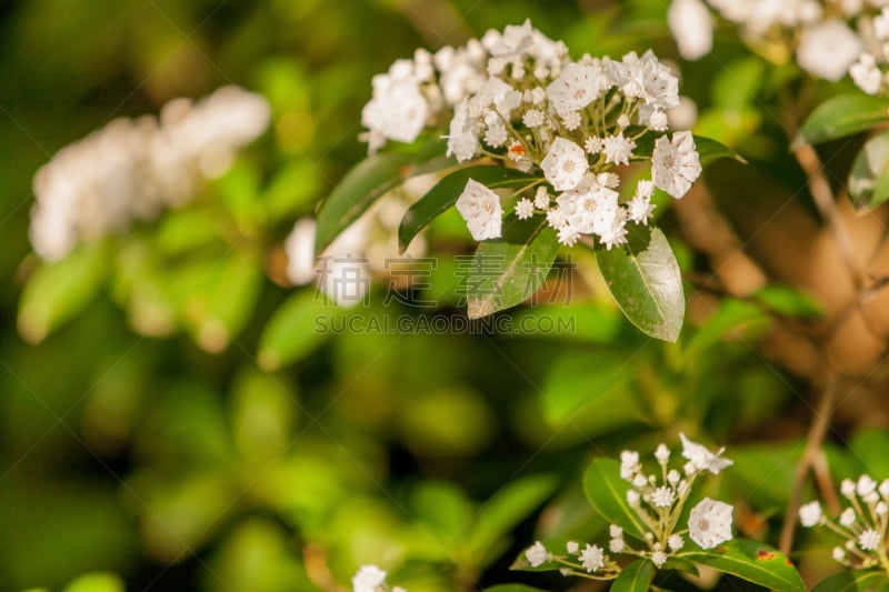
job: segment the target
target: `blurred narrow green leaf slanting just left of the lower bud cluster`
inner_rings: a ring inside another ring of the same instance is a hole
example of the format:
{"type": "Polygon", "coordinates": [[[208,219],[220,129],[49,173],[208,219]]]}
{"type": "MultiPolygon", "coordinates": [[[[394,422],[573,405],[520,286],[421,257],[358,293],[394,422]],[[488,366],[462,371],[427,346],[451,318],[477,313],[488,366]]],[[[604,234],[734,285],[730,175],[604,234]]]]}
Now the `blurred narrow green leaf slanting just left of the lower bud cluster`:
{"type": "Polygon", "coordinates": [[[497,542],[528,518],[556,489],[550,475],[531,475],[503,485],[476,513],[466,536],[468,556],[482,566],[493,559],[497,542]]]}

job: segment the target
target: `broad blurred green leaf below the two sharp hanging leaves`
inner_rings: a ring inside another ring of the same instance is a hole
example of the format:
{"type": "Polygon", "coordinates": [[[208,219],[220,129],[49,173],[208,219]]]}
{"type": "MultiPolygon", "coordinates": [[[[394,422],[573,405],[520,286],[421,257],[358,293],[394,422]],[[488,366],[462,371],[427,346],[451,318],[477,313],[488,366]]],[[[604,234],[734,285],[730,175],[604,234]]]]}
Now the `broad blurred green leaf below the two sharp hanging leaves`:
{"type": "MultiPolygon", "coordinates": [[[[595,415],[597,424],[607,430],[638,421],[642,411],[627,389],[635,374],[636,365],[618,352],[559,357],[543,383],[541,402],[547,421],[565,425],[581,412],[595,415]]],[[[586,423],[583,428],[590,430],[586,423]]]]}

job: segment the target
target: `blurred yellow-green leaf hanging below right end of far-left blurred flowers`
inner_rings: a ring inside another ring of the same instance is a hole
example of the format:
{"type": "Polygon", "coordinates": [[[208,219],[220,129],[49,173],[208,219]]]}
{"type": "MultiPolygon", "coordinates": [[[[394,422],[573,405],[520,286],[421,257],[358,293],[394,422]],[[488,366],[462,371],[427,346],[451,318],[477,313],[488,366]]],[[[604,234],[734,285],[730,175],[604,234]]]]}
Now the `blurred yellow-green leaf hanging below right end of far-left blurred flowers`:
{"type": "Polygon", "coordinates": [[[253,313],[262,282],[262,262],[249,249],[234,250],[206,271],[183,309],[187,327],[201,348],[219,353],[229,345],[253,313]]]}

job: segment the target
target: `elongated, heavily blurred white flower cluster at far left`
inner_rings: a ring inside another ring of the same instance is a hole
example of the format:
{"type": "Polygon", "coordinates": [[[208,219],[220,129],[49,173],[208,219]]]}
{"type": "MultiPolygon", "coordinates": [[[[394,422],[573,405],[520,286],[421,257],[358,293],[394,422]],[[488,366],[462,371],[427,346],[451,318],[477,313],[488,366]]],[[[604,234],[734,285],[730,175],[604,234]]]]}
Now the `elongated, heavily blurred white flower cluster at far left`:
{"type": "Polygon", "coordinates": [[[30,237],[44,260],[81,240],[127,228],[192,199],[236,150],[269,124],[266,100],[223,87],[198,102],[174,99],[160,119],[117,119],[60,150],[34,175],[30,237]]]}

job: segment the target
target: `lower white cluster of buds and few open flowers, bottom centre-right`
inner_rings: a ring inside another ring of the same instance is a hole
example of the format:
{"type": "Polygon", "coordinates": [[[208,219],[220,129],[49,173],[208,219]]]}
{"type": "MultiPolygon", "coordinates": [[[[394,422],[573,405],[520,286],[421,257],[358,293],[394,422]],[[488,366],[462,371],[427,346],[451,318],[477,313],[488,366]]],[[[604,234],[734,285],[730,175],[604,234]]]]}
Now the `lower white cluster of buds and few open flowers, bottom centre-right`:
{"type": "MultiPolygon", "coordinates": [[[[620,454],[620,476],[631,484],[627,491],[627,503],[641,519],[647,528],[645,543],[647,549],[633,549],[623,538],[623,529],[611,524],[608,550],[611,553],[626,553],[647,558],[657,568],[663,566],[667,560],[679,553],[686,544],[688,535],[701,549],[713,549],[732,539],[732,513],[730,504],[705,498],[689,512],[688,528],[679,529],[679,519],[683,513],[685,504],[689,500],[692,483],[703,473],[718,474],[732,462],[721,456],[725,449],[712,452],[702,444],[692,442],[685,434],[682,441],[682,456],[686,463],[680,472],[670,469],[670,450],[666,444],[660,444],[655,451],[655,458],[660,465],[660,474],[646,474],[642,470],[639,453],[623,451],[620,454]]],[[[569,542],[567,555],[557,554],[548,550],[543,543],[537,541],[526,550],[525,558],[532,568],[539,568],[547,562],[565,565],[563,573],[583,575],[586,573],[600,573],[601,576],[616,576],[620,568],[602,548],[587,544],[581,551],[577,542],[569,542]],[[577,558],[577,559],[575,559],[577,558]],[[578,564],[579,563],[579,564],[578,564]]]]}

